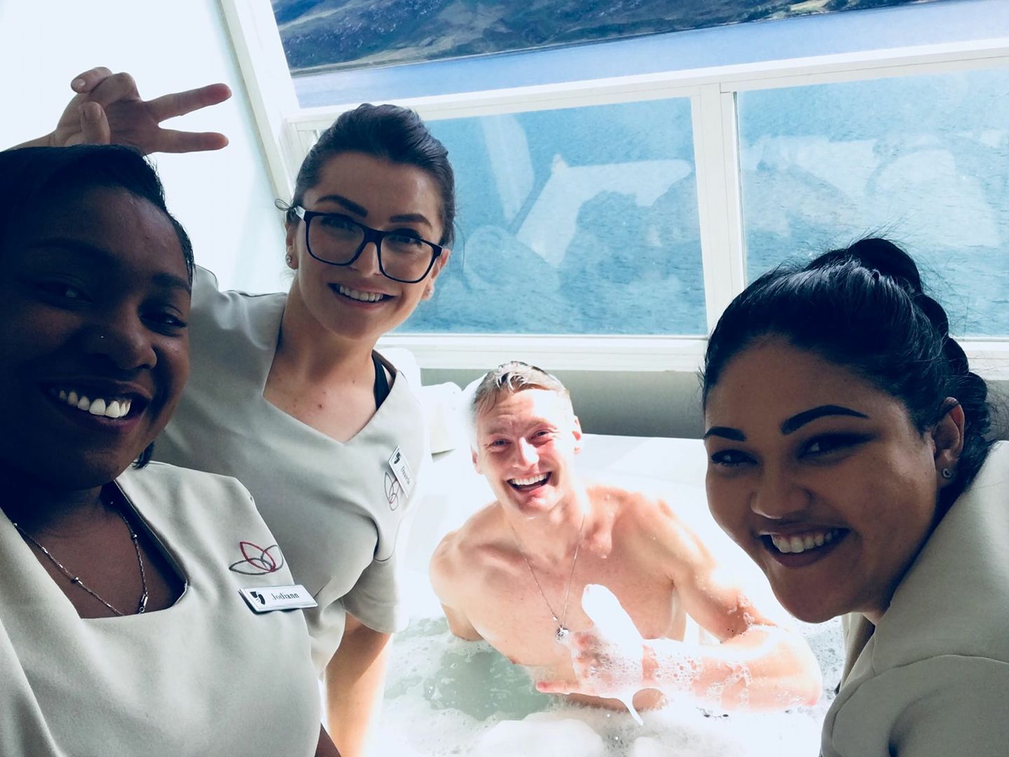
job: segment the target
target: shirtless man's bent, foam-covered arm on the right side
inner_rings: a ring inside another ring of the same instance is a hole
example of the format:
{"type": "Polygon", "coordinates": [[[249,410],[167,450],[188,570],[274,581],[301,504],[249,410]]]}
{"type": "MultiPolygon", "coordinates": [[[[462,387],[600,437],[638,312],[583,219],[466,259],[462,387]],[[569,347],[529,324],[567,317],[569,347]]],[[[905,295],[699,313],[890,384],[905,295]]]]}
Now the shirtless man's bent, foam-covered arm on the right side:
{"type": "MultiPolygon", "coordinates": [[[[615,640],[595,629],[578,632],[568,640],[580,684],[576,690],[597,696],[636,687],[688,691],[726,709],[814,704],[822,687],[819,666],[780,608],[782,620],[776,622],[776,603],[756,602],[759,592],[745,591],[739,574],[730,575],[665,505],[659,503],[658,512],[648,512],[644,521],[656,537],[644,542],[656,550],[656,570],[670,576],[684,610],[722,643],[645,640],[636,632],[633,639],[615,640]]],[[[633,628],[627,620],[623,625],[633,628]]],[[[537,687],[548,693],[572,692],[570,683],[562,681],[544,681],[537,687]]]]}

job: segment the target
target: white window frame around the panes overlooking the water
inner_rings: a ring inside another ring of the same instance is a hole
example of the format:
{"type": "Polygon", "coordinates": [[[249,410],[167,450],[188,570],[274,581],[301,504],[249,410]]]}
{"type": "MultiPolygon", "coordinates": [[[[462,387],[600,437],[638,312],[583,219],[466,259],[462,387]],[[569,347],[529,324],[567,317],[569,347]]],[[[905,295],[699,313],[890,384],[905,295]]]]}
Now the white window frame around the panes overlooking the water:
{"type": "MultiPolygon", "coordinates": [[[[356,102],[298,105],[269,0],[221,0],[253,105],[273,190],[291,196],[318,131],[356,102]]],[[[1009,66],[1009,37],[670,71],[583,82],[400,99],[426,121],[688,97],[707,327],[746,286],[736,97],[740,92],[1009,66]]],[[[695,370],[705,339],[686,336],[389,334],[423,368],[486,368],[506,359],[555,370],[695,370]]],[[[972,365],[1009,379],[1009,337],[963,340],[972,365]]]]}

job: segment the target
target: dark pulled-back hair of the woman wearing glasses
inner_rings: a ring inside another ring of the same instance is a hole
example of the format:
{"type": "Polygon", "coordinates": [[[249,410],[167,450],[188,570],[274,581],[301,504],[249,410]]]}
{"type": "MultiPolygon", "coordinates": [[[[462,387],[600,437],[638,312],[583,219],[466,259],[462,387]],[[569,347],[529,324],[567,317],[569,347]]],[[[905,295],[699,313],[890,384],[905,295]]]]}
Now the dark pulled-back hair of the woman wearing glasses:
{"type": "Polygon", "coordinates": [[[425,172],[441,194],[442,235],[438,243],[451,246],[455,239],[455,174],[448,150],[436,139],[420,116],[399,105],[364,103],[341,113],[302,161],[295,181],[295,196],[286,207],[288,224],[296,223],[294,206],[305,203],[305,193],[319,183],[326,161],[341,152],[363,152],[390,163],[416,166],[425,172]]]}

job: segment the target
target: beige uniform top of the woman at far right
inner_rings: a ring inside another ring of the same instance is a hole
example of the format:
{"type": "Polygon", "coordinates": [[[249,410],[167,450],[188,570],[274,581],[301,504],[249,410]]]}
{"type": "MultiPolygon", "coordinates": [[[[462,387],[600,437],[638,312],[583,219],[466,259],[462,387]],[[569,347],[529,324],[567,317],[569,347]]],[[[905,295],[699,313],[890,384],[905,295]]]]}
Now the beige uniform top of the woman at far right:
{"type": "Polygon", "coordinates": [[[1009,754],[1009,445],[996,445],[880,623],[847,628],[824,757],[1009,754]]]}

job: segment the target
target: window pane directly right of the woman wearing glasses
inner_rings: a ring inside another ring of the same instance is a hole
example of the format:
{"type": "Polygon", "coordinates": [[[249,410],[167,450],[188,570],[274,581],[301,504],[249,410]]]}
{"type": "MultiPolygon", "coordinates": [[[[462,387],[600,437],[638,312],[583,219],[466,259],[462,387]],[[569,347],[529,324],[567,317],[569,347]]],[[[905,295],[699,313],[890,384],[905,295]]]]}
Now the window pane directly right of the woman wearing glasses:
{"type": "Polygon", "coordinates": [[[456,250],[407,331],[700,334],[686,99],[429,122],[456,250]]]}

